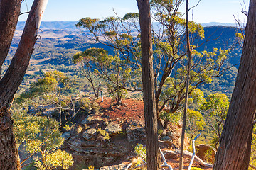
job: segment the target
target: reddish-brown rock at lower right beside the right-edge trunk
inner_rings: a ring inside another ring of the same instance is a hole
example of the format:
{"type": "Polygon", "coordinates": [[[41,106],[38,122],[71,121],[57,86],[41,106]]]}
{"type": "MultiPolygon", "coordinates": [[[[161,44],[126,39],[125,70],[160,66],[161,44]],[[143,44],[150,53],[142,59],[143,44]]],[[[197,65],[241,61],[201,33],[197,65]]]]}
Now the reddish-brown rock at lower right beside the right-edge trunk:
{"type": "Polygon", "coordinates": [[[196,155],[204,162],[214,163],[216,150],[210,145],[196,145],[196,155]]]}

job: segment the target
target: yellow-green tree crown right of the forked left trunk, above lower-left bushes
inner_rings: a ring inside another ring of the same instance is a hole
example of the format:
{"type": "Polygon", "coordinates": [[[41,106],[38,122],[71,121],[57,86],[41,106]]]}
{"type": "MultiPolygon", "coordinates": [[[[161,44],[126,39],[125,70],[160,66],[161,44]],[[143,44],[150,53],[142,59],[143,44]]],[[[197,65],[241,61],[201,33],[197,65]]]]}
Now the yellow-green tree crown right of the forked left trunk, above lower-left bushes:
{"type": "MultiPolygon", "coordinates": [[[[68,115],[76,112],[76,103],[79,99],[75,96],[67,96],[70,87],[75,81],[69,79],[63,72],[46,72],[44,77],[31,84],[31,86],[15,99],[15,103],[29,103],[30,106],[38,106],[38,103],[47,106],[48,113],[60,120],[67,120],[68,115]],[[33,104],[32,104],[33,103],[33,104]]],[[[45,108],[43,108],[45,110],[45,108]]],[[[40,114],[40,113],[39,113],[40,114]]]]}

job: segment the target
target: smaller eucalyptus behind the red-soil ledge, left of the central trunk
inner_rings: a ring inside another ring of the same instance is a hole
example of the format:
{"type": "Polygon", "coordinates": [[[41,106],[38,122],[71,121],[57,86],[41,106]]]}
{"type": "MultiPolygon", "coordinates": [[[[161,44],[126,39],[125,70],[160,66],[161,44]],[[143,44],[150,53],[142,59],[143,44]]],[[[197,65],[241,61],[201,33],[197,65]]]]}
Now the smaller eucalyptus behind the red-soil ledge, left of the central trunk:
{"type": "Polygon", "coordinates": [[[125,60],[120,59],[118,52],[109,55],[107,50],[102,48],[88,48],[85,52],[75,54],[73,62],[81,64],[83,74],[90,81],[96,97],[102,86],[107,86],[108,94],[112,94],[117,105],[121,104],[127,86],[136,84],[133,77],[135,72],[132,72],[125,60]]]}

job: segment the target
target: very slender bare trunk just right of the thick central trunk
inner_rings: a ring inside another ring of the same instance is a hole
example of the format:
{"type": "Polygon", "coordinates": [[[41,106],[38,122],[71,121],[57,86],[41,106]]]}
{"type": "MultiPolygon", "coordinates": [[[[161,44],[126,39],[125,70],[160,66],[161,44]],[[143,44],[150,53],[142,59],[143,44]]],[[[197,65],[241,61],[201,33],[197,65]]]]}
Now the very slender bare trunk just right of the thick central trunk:
{"type": "Polygon", "coordinates": [[[183,148],[184,148],[184,138],[185,138],[185,129],[186,129],[186,115],[188,111],[188,88],[189,88],[189,76],[190,76],[190,67],[191,67],[191,47],[189,43],[189,31],[188,31],[188,0],[186,0],[186,42],[187,42],[187,52],[188,52],[188,63],[187,63],[187,77],[186,77],[186,95],[184,103],[184,113],[182,120],[182,132],[181,132],[181,154],[179,160],[178,169],[183,169],[183,148]]]}

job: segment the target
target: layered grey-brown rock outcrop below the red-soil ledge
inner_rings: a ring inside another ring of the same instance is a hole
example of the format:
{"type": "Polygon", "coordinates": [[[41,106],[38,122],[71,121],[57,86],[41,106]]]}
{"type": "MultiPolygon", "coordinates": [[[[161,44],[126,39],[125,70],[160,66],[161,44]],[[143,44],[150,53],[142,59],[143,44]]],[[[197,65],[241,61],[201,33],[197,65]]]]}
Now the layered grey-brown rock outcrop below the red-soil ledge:
{"type": "MultiPolygon", "coordinates": [[[[101,170],[122,169],[125,165],[122,167],[111,165],[129,162],[129,157],[136,156],[134,147],[138,143],[145,145],[144,120],[137,113],[137,118],[113,117],[117,115],[114,111],[127,115],[127,112],[124,113],[122,110],[124,108],[127,106],[110,107],[109,110],[97,112],[89,111],[87,115],[86,113],[80,115],[80,121],[77,123],[80,130],[73,128],[63,134],[65,145],[62,149],[72,154],[75,161],[71,169],[75,169],[75,165],[78,164],[94,166],[101,170]],[[110,117],[111,112],[112,117],[110,117]]],[[[134,112],[133,108],[131,111],[134,112]]],[[[166,147],[177,149],[180,145],[180,138],[181,128],[178,125],[169,124],[166,130],[162,130],[159,134],[162,147],[167,145],[166,147]]],[[[187,141],[185,146],[188,146],[187,141]]]]}

